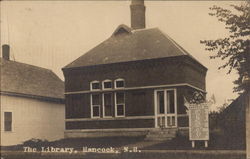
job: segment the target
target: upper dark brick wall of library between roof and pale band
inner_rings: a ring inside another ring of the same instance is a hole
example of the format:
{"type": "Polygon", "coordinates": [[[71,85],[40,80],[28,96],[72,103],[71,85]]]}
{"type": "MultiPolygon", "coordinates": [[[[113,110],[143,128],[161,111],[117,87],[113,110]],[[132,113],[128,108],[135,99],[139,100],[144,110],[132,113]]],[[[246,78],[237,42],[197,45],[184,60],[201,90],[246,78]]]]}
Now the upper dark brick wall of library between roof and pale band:
{"type": "Polygon", "coordinates": [[[90,90],[93,80],[125,79],[126,87],[190,83],[205,89],[206,69],[186,56],[65,69],[65,91],[90,90]]]}

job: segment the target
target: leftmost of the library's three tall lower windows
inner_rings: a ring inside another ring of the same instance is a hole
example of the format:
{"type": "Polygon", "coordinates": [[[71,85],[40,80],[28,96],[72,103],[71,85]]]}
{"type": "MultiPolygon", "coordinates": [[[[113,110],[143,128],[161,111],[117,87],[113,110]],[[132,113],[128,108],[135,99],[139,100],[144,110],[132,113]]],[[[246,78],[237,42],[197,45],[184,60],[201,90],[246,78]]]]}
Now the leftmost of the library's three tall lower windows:
{"type": "Polygon", "coordinates": [[[91,117],[92,118],[99,118],[100,117],[100,95],[99,94],[92,94],[91,95],[91,117]]]}

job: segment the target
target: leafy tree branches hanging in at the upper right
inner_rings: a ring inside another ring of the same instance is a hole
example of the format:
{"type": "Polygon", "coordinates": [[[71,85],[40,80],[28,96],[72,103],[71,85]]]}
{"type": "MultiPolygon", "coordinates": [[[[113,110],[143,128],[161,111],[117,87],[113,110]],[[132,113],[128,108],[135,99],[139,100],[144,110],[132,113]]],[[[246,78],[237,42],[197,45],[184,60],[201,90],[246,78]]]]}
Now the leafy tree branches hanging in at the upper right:
{"type": "Polygon", "coordinates": [[[229,68],[228,74],[232,70],[237,71],[239,78],[234,81],[234,92],[241,92],[247,89],[246,83],[242,80],[250,76],[250,1],[231,7],[232,11],[213,6],[210,8],[212,13],[209,13],[225,23],[229,36],[200,42],[206,46],[205,50],[217,52],[216,55],[211,55],[210,59],[226,60],[218,69],[229,68]]]}

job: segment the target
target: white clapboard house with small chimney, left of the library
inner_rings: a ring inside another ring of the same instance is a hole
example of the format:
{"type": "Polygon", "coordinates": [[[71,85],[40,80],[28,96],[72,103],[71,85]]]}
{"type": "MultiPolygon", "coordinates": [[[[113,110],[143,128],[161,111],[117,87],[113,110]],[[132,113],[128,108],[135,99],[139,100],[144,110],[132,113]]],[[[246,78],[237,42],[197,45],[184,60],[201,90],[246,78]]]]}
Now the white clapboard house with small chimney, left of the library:
{"type": "Polygon", "coordinates": [[[1,64],[1,145],[56,140],[64,135],[64,82],[51,70],[11,61],[3,45],[1,64]]]}

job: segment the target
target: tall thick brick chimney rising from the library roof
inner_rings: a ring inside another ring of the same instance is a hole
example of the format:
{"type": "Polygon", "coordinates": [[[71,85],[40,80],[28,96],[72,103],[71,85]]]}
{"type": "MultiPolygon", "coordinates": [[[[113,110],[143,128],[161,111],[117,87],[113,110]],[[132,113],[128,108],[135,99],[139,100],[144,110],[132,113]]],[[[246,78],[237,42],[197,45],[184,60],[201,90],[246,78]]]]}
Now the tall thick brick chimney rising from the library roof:
{"type": "Polygon", "coordinates": [[[131,28],[143,29],[145,28],[145,6],[144,0],[131,0],[131,28]]]}

